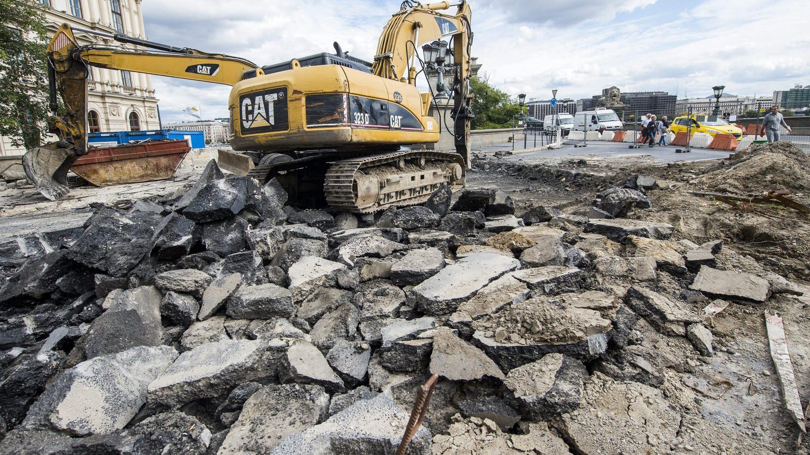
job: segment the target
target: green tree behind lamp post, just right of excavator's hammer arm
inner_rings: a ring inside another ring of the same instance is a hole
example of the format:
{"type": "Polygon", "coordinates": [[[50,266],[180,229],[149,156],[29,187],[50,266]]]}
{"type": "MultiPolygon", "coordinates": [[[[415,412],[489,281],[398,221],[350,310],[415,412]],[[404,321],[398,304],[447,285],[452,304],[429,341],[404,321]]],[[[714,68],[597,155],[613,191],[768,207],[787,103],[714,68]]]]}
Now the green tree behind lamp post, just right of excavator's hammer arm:
{"type": "Polygon", "coordinates": [[[473,94],[472,119],[473,130],[494,130],[510,128],[520,115],[520,105],[505,91],[493,87],[486,76],[470,79],[470,91],[473,94]]]}

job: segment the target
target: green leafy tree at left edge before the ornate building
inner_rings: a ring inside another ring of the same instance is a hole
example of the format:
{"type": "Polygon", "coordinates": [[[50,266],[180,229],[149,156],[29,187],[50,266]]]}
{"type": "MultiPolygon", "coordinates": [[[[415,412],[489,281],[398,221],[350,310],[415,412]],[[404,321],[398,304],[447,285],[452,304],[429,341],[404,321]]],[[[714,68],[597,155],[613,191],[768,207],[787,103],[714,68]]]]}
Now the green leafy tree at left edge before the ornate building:
{"type": "Polygon", "coordinates": [[[43,8],[34,0],[0,0],[0,135],[15,147],[36,147],[48,134],[43,8]]]}

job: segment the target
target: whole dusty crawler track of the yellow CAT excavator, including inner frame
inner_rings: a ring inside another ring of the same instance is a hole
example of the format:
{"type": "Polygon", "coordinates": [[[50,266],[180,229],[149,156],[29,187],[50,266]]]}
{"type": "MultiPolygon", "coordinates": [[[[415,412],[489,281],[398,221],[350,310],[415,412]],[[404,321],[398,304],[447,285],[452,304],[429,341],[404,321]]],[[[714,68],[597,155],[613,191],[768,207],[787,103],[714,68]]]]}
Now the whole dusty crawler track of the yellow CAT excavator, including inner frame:
{"type": "Polygon", "coordinates": [[[426,202],[443,183],[464,185],[461,155],[441,151],[396,151],[343,159],[326,171],[326,202],[338,210],[372,213],[426,202]]]}

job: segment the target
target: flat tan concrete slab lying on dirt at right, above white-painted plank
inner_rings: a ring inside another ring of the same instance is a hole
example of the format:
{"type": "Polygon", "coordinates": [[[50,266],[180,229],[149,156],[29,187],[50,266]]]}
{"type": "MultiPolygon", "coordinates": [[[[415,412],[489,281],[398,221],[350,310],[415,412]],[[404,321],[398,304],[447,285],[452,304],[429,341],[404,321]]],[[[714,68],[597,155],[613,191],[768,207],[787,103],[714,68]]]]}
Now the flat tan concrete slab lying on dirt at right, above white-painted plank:
{"type": "Polygon", "coordinates": [[[701,266],[689,289],[710,296],[762,303],[770,297],[770,283],[760,277],[744,272],[717,270],[701,266]]]}

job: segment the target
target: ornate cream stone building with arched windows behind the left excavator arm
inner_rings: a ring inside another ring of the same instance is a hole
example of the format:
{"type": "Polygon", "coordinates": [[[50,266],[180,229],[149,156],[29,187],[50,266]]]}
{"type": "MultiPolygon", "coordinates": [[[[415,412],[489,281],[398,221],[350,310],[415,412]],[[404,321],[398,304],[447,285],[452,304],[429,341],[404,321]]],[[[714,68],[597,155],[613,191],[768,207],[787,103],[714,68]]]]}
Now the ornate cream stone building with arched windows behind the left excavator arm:
{"type": "MultiPolygon", "coordinates": [[[[45,27],[53,36],[62,23],[105,33],[125,33],[147,39],[143,28],[141,0],[38,0],[47,6],[45,27]]],[[[79,45],[122,45],[89,33],[75,32],[79,45]]],[[[158,100],[149,74],[91,68],[87,82],[88,131],[157,130],[160,128],[158,100]]],[[[22,148],[0,140],[0,155],[22,155],[22,148]]]]}

